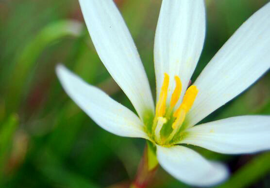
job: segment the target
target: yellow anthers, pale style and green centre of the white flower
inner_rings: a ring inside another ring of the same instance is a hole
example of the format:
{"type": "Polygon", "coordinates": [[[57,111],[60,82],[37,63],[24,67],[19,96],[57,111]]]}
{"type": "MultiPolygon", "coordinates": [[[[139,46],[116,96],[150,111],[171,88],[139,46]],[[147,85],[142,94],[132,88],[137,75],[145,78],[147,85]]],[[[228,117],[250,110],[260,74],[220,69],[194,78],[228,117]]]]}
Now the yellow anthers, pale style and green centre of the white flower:
{"type": "Polygon", "coordinates": [[[198,94],[197,87],[194,85],[190,86],[186,90],[181,105],[174,111],[174,107],[180,98],[182,90],[182,83],[179,76],[174,76],[174,79],[176,86],[171,95],[168,107],[166,101],[168,97],[169,75],[167,73],[164,74],[159,100],[156,104],[155,117],[152,125],[152,138],[159,145],[170,145],[170,141],[179,132],[186,118],[186,113],[192,107],[198,94]],[[169,134],[162,134],[162,129],[166,129],[164,126],[167,127],[167,130],[169,127],[169,134]]]}

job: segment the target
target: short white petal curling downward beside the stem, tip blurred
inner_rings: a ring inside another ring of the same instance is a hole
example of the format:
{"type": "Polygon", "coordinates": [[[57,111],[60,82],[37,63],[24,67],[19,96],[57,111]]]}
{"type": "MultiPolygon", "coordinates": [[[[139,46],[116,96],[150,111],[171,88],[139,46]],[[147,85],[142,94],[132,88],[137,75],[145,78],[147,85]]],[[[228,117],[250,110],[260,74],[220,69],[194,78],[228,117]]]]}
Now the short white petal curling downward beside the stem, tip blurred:
{"type": "Polygon", "coordinates": [[[157,146],[157,159],[172,176],[192,186],[213,186],[228,177],[226,167],[184,146],[157,146]]]}

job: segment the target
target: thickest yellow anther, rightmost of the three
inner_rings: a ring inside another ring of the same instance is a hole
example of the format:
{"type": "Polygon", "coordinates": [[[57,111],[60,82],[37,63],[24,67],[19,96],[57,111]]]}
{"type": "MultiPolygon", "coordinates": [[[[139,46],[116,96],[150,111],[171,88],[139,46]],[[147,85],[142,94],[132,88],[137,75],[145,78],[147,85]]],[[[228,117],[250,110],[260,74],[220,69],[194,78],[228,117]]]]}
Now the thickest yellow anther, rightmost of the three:
{"type": "Polygon", "coordinates": [[[198,92],[199,92],[199,90],[197,89],[196,86],[190,86],[186,90],[186,94],[184,95],[182,104],[177,109],[177,111],[175,111],[173,116],[177,117],[178,114],[180,113],[181,109],[184,109],[187,113],[190,110],[190,108],[192,107],[198,92]]]}

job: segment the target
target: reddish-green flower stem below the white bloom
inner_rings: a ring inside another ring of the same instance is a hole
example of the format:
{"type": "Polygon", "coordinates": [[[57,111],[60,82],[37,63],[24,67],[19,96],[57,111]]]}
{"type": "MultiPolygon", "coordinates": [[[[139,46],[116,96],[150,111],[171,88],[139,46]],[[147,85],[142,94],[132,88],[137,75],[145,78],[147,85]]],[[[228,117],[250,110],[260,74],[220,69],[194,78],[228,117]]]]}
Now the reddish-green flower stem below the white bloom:
{"type": "Polygon", "coordinates": [[[154,145],[147,141],[144,154],[137,169],[135,180],[130,188],[147,188],[152,182],[155,172],[158,169],[158,162],[155,155],[154,145]]]}

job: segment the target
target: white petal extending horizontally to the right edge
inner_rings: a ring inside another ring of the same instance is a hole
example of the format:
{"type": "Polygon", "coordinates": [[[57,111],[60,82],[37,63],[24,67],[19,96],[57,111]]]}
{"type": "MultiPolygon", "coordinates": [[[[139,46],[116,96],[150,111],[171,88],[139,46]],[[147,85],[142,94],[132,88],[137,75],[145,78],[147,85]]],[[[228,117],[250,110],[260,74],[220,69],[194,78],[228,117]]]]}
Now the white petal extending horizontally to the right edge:
{"type": "Polygon", "coordinates": [[[221,119],[186,130],[180,143],[220,153],[238,154],[270,150],[270,116],[247,115],[221,119]]]}

